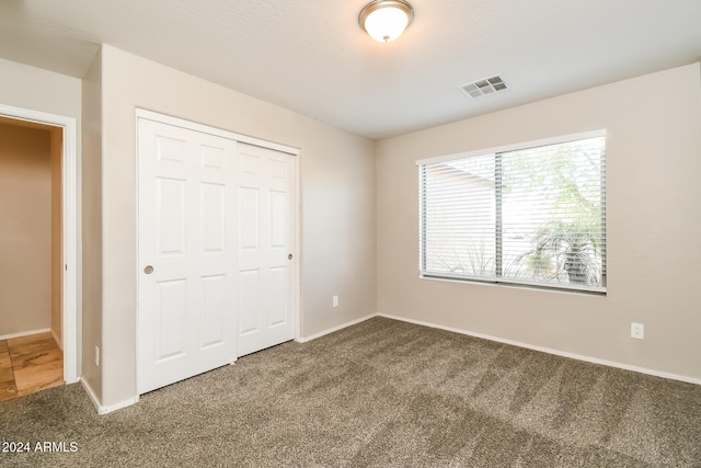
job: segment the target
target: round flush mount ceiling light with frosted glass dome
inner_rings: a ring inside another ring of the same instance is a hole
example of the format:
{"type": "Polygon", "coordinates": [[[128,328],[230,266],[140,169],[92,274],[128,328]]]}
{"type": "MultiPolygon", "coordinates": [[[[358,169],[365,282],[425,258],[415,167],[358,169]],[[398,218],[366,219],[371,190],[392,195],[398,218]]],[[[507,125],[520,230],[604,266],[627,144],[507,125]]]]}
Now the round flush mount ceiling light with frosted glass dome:
{"type": "Polygon", "coordinates": [[[414,9],[404,0],[374,0],[363,8],[358,22],[375,41],[389,43],[401,36],[413,19],[414,9]]]}

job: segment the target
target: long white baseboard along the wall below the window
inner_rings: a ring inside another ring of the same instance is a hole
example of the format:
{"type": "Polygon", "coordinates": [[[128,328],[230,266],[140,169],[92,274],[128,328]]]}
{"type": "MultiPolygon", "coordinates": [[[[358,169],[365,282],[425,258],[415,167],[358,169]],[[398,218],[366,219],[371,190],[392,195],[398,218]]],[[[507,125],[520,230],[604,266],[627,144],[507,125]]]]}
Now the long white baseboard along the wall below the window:
{"type": "Polygon", "coordinates": [[[584,361],[584,362],[587,362],[587,363],[601,364],[601,365],[608,366],[608,367],[617,367],[617,368],[620,368],[620,369],[632,370],[632,372],[636,372],[636,373],[641,373],[641,374],[647,374],[647,375],[652,375],[652,376],[655,376],[655,377],[662,377],[662,378],[667,378],[667,379],[671,379],[671,380],[685,381],[687,384],[701,385],[701,379],[699,379],[699,378],[687,377],[687,376],[665,373],[665,372],[660,372],[660,370],[647,369],[647,368],[644,368],[644,367],[631,366],[629,364],[617,363],[617,362],[613,362],[613,361],[599,359],[597,357],[583,356],[581,354],[574,354],[574,353],[567,353],[567,352],[564,352],[564,351],[552,350],[550,347],[535,346],[535,345],[528,344],[528,343],[521,343],[521,342],[518,342],[518,341],[505,340],[503,338],[492,336],[492,335],[484,334],[484,333],[474,333],[474,332],[471,332],[471,331],[460,330],[460,329],[456,329],[456,328],[452,328],[452,327],[444,327],[444,326],[439,326],[439,324],[436,324],[436,323],[425,322],[425,321],[422,321],[422,320],[406,319],[404,317],[390,316],[390,315],[387,315],[387,313],[377,313],[377,316],[378,317],[384,317],[384,318],[392,319],[392,320],[400,320],[400,321],[407,322],[407,323],[414,323],[414,324],[417,324],[417,326],[423,326],[423,327],[429,327],[429,328],[451,331],[453,333],[467,334],[469,336],[481,338],[483,340],[495,341],[497,343],[509,344],[512,346],[526,347],[528,350],[540,351],[542,353],[554,354],[556,356],[562,356],[562,357],[570,357],[572,359],[584,361]]]}

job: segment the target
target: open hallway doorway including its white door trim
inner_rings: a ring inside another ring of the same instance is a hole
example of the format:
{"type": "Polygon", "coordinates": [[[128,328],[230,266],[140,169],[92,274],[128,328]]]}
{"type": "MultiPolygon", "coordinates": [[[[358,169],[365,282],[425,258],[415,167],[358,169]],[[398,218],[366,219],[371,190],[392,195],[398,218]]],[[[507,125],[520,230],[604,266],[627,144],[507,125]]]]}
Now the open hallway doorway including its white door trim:
{"type": "Polygon", "coordinates": [[[0,105],[0,400],[78,380],[76,140],[0,105]]]}

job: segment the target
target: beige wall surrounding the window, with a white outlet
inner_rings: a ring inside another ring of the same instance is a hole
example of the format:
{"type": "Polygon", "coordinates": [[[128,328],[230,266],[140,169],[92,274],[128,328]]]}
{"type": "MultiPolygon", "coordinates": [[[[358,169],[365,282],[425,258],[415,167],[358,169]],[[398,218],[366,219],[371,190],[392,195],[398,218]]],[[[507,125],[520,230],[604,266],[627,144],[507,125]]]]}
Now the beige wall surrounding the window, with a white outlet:
{"type": "Polygon", "coordinates": [[[377,145],[378,312],[701,379],[699,64],[377,145]],[[606,128],[606,297],[418,278],[417,159],[606,128]],[[645,340],[630,338],[632,321],[645,340]]]}

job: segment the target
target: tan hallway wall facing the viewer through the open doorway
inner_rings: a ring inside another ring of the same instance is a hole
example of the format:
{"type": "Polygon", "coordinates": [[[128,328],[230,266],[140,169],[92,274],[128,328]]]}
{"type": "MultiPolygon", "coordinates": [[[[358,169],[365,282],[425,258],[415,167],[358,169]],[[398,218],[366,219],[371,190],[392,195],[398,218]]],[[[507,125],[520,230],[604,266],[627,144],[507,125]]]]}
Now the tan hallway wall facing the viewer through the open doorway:
{"type": "Polygon", "coordinates": [[[50,139],[0,123],[0,336],[50,328],[50,139]]]}

